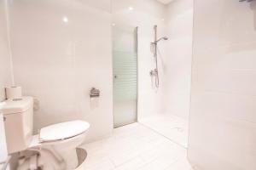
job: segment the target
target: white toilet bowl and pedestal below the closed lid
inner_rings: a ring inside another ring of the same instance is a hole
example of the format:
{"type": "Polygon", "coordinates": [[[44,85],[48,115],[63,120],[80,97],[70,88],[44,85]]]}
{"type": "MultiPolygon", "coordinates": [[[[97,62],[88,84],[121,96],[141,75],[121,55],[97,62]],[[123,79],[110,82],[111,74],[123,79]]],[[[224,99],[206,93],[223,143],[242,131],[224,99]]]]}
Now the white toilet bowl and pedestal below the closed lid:
{"type": "MultiPolygon", "coordinates": [[[[86,134],[44,143],[39,143],[38,135],[35,135],[27,150],[38,153],[38,167],[44,167],[44,170],[73,170],[79,166],[77,148],[83,144],[86,134]]],[[[19,170],[23,169],[20,166],[19,170]]]]}

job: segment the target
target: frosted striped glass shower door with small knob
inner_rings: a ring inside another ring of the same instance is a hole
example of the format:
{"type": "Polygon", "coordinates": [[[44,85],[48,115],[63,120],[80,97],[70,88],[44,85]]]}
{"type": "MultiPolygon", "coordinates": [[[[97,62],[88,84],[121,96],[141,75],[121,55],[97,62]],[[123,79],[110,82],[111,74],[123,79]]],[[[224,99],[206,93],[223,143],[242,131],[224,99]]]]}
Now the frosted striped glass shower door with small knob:
{"type": "Polygon", "coordinates": [[[113,26],[113,122],[137,122],[137,28],[113,26]]]}

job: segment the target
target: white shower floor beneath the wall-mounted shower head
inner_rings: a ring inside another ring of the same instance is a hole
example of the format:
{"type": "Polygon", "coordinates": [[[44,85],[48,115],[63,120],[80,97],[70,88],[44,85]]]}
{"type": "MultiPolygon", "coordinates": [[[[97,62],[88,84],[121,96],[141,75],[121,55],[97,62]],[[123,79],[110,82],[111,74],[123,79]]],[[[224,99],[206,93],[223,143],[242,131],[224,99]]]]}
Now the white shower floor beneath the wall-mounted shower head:
{"type": "Polygon", "coordinates": [[[141,123],[162,134],[173,142],[187,148],[189,122],[171,114],[159,114],[143,118],[141,123]]]}

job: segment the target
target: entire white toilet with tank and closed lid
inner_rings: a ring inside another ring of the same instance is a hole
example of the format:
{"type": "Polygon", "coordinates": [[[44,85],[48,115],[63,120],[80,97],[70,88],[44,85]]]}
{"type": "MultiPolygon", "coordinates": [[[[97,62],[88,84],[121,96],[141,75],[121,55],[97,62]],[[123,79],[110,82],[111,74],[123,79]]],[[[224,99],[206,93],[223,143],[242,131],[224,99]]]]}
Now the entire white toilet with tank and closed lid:
{"type": "Polygon", "coordinates": [[[5,103],[1,111],[9,154],[20,151],[38,153],[30,161],[24,161],[18,169],[27,169],[28,163],[32,164],[30,167],[44,167],[45,170],[71,170],[78,167],[76,149],[84,142],[90,127],[88,122],[61,122],[43,127],[38,134],[32,135],[33,98],[8,99],[5,103]]]}

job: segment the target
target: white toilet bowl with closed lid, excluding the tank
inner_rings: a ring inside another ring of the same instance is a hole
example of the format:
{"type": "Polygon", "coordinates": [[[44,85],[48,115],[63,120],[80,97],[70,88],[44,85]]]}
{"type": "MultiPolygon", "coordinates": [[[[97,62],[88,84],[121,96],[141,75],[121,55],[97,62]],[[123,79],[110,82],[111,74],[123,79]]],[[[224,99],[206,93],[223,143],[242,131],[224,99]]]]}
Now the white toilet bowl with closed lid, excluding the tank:
{"type": "Polygon", "coordinates": [[[54,169],[75,169],[79,165],[76,148],[84,142],[90,124],[83,121],[62,122],[43,127],[38,135],[33,136],[27,150],[40,153],[39,164],[54,169]],[[49,159],[48,155],[52,155],[49,159]]]}

